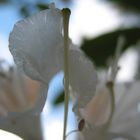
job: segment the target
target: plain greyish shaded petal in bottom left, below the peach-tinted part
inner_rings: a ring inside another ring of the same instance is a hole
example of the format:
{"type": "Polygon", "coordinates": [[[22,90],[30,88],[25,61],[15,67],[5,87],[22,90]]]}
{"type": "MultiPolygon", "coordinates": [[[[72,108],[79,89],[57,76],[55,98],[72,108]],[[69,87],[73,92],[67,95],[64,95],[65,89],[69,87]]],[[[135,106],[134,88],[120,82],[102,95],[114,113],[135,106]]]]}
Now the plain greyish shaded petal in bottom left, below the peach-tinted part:
{"type": "Polygon", "coordinates": [[[17,134],[24,140],[42,140],[40,115],[30,112],[10,113],[0,118],[0,129],[17,134]]]}

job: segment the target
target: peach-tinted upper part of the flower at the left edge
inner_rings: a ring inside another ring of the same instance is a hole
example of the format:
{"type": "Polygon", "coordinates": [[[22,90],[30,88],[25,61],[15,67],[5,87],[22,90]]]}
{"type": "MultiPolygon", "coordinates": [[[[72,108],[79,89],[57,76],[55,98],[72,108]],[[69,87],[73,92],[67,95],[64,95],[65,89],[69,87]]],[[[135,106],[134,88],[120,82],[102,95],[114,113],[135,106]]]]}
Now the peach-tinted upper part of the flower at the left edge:
{"type": "Polygon", "coordinates": [[[4,70],[0,64],[0,116],[30,110],[35,105],[39,84],[15,67],[4,70]]]}

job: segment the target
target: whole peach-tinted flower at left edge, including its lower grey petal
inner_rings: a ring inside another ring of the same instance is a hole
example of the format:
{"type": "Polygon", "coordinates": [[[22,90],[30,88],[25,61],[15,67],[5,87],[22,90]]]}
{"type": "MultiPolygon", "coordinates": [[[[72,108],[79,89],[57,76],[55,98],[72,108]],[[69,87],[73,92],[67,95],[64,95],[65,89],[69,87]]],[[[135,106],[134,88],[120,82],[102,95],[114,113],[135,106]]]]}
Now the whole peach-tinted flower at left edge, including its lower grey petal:
{"type": "Polygon", "coordinates": [[[0,62],[0,129],[26,140],[42,139],[40,115],[33,113],[39,84],[6,66],[0,62]]]}

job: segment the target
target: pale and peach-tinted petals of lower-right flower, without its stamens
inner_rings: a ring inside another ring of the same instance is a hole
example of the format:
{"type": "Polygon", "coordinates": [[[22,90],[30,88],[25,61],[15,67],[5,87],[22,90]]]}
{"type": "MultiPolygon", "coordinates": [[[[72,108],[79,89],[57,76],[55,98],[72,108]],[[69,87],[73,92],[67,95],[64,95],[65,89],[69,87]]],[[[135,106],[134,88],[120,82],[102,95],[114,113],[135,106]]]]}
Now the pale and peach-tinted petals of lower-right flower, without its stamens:
{"type": "Polygon", "coordinates": [[[111,104],[107,90],[93,97],[84,110],[85,126],[78,140],[138,140],[140,112],[138,110],[140,82],[115,86],[115,111],[110,118],[111,104]]]}

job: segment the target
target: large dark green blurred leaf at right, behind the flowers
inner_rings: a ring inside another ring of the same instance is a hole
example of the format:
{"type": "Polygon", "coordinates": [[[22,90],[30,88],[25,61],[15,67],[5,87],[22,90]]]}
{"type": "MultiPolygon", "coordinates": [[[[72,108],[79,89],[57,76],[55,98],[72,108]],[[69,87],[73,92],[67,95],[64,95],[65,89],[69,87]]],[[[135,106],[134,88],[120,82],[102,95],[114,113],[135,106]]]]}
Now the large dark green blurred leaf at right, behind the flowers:
{"type": "Polygon", "coordinates": [[[85,39],[81,49],[94,61],[96,66],[105,67],[107,60],[115,53],[117,39],[120,35],[126,38],[124,51],[140,39],[140,28],[119,29],[93,39],[85,39]]]}

